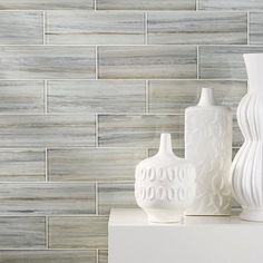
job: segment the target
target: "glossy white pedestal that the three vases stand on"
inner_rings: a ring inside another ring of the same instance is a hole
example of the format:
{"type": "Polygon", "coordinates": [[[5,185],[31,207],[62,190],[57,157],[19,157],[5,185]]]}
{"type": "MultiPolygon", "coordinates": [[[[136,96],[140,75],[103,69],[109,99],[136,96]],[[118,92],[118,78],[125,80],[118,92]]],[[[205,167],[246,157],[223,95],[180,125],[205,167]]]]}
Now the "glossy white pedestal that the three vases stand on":
{"type": "Polygon", "coordinates": [[[263,223],[187,216],[150,224],[140,210],[113,210],[109,263],[262,263],[263,223]]]}

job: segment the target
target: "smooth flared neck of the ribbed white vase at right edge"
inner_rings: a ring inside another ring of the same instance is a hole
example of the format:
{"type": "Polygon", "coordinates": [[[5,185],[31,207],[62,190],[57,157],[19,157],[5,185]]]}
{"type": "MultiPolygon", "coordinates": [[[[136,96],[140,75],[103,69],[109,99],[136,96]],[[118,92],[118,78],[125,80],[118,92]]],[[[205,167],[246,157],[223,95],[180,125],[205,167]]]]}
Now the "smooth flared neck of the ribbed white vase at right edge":
{"type": "Polygon", "coordinates": [[[249,77],[249,91],[263,95],[263,55],[244,55],[244,60],[249,77]]]}

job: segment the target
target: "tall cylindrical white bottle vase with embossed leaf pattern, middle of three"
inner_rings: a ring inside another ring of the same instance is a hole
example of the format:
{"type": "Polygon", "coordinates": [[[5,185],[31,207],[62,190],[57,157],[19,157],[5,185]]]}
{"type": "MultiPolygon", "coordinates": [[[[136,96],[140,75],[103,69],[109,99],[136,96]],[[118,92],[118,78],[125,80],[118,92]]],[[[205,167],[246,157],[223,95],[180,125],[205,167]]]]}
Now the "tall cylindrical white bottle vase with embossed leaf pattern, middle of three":
{"type": "Polygon", "coordinates": [[[203,88],[185,111],[185,157],[196,167],[196,197],[187,215],[231,214],[232,113],[203,88]]]}

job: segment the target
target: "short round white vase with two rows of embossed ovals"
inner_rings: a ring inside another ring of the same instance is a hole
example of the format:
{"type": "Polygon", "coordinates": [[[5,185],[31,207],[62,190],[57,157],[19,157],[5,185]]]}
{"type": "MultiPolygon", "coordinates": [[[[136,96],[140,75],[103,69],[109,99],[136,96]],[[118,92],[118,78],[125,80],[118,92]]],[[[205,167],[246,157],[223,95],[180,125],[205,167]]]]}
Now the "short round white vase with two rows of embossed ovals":
{"type": "Polygon", "coordinates": [[[179,222],[195,196],[195,168],[177,157],[169,134],[160,135],[158,153],[136,167],[135,197],[149,222],[179,222]]]}

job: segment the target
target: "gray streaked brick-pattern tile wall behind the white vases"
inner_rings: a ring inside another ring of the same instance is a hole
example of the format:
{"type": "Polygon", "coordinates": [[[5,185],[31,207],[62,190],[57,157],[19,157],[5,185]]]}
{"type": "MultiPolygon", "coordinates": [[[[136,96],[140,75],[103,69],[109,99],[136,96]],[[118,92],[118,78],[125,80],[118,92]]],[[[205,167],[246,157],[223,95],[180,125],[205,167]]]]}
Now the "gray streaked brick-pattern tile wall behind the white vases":
{"type": "MultiPolygon", "coordinates": [[[[110,207],[201,87],[235,113],[262,0],[0,1],[0,262],[106,263],[110,207]]],[[[234,153],[242,135],[234,120],[234,153]]]]}

